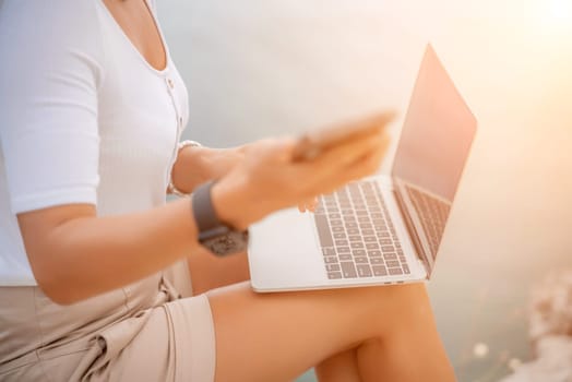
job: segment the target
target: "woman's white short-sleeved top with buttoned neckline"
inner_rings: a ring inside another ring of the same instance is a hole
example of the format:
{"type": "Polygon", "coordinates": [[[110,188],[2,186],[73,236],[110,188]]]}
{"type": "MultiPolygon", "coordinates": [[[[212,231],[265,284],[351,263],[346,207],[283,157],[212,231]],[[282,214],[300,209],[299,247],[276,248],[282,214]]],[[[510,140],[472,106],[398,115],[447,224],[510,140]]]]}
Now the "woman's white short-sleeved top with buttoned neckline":
{"type": "Polygon", "coordinates": [[[16,214],[164,204],[188,95],[100,0],[3,0],[0,58],[0,286],[36,285],[16,214]]]}

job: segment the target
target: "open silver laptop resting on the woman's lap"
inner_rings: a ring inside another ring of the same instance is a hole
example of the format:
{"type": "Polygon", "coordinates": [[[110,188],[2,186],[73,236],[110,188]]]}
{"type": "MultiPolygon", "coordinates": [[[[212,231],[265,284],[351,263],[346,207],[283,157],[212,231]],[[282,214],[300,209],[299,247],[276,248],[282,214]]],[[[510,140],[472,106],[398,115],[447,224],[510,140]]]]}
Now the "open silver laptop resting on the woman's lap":
{"type": "Polygon", "coordinates": [[[429,279],[476,127],[428,46],[391,176],[366,178],[323,195],[314,214],[284,210],[252,226],[253,289],[429,279]]]}

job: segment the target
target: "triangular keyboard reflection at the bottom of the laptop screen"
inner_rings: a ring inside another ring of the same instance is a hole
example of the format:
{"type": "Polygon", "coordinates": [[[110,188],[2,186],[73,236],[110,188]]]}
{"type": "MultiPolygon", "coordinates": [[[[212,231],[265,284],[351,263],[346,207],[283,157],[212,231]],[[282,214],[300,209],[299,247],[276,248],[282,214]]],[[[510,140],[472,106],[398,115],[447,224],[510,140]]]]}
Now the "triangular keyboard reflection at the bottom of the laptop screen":
{"type": "Polygon", "coordinates": [[[407,190],[409,199],[421,220],[434,260],[451,207],[446,203],[414,189],[413,187],[406,184],[405,189],[407,190]]]}

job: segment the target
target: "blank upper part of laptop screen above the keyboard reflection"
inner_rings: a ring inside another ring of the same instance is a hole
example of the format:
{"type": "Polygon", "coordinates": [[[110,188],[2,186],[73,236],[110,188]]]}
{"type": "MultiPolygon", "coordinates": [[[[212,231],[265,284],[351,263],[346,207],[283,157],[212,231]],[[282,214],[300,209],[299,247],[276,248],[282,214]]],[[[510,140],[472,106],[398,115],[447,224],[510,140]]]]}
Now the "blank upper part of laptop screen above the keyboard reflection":
{"type": "Polygon", "coordinates": [[[475,117],[428,46],[392,175],[452,202],[476,126],[475,117]]]}

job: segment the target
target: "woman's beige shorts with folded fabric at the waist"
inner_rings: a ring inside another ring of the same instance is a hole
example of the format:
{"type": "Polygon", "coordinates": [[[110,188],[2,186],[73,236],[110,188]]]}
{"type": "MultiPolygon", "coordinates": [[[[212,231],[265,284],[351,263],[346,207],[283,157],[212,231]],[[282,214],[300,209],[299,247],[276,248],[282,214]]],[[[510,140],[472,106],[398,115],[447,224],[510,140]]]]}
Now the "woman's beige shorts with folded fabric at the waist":
{"type": "Polygon", "coordinates": [[[211,308],[191,295],[186,261],[65,307],[0,287],[0,381],[211,382],[211,308]]]}

